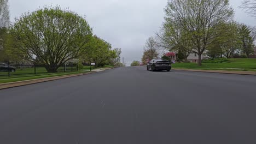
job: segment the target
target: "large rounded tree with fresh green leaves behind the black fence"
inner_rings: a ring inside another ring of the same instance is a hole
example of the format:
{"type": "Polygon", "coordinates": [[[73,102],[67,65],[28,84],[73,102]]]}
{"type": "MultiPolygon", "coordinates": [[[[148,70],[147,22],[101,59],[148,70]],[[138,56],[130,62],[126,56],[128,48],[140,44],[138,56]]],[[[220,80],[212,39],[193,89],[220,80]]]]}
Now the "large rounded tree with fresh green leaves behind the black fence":
{"type": "Polygon", "coordinates": [[[60,7],[44,7],[23,14],[10,32],[15,39],[12,51],[43,64],[51,73],[78,58],[92,37],[92,29],[82,16],[60,7]]]}

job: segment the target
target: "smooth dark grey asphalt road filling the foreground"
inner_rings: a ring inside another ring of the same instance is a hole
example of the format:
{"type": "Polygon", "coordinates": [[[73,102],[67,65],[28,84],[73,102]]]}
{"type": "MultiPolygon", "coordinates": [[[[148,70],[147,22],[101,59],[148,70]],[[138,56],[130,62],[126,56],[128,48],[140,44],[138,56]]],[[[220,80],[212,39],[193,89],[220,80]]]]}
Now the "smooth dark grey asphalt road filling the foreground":
{"type": "Polygon", "coordinates": [[[3,89],[0,143],[256,143],[256,76],[126,67],[3,89]]]}

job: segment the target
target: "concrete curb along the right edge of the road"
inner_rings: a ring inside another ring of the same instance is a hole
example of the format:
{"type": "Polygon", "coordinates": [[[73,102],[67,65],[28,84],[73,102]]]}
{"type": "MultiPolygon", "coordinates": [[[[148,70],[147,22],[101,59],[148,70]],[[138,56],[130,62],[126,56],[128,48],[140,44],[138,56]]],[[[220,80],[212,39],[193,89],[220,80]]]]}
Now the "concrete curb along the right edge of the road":
{"type": "Polygon", "coordinates": [[[195,71],[203,73],[220,73],[220,74],[237,74],[237,75],[256,75],[256,71],[228,71],[228,70],[197,70],[197,69],[176,69],[173,70],[182,70],[182,71],[195,71]]]}

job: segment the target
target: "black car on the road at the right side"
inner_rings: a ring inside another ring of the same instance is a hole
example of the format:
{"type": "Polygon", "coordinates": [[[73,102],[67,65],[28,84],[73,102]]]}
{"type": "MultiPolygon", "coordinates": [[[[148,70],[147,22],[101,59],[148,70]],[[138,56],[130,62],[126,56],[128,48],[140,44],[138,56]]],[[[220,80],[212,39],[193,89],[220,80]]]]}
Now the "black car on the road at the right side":
{"type": "Polygon", "coordinates": [[[147,65],[147,70],[155,71],[155,70],[167,70],[170,71],[172,69],[171,62],[166,59],[152,59],[147,65]]]}

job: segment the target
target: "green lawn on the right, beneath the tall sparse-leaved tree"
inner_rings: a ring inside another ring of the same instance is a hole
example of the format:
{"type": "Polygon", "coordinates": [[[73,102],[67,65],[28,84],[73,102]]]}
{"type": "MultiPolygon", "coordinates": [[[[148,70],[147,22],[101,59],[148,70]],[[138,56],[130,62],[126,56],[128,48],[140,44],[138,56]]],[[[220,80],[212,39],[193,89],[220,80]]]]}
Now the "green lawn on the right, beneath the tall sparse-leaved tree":
{"type": "Polygon", "coordinates": [[[196,63],[175,63],[172,64],[172,67],[185,69],[256,71],[256,59],[228,59],[228,62],[224,63],[202,63],[202,66],[196,63]]]}

